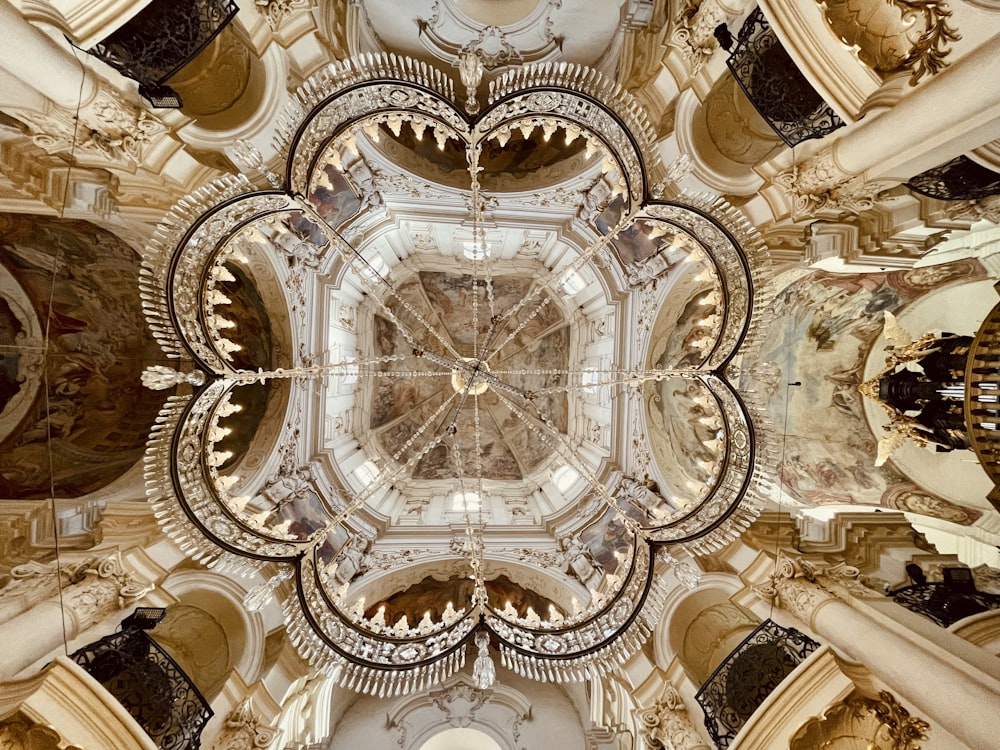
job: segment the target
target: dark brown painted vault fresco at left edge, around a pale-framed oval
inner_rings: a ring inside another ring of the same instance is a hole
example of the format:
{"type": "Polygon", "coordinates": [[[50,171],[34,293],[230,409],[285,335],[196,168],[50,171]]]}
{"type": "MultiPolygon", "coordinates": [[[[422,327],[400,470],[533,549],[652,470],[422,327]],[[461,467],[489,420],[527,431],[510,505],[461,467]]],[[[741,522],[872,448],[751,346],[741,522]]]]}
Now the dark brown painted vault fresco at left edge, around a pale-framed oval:
{"type": "MultiPolygon", "coordinates": [[[[0,443],[0,498],[93,492],[140,458],[163,400],[139,381],[163,357],[139,305],[139,257],[86,222],[5,214],[0,263],[47,330],[33,400],[0,443]]],[[[4,353],[8,371],[37,352],[38,342],[22,349],[17,333],[4,353]]],[[[15,385],[23,381],[7,390],[15,385]]]]}

